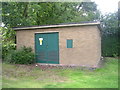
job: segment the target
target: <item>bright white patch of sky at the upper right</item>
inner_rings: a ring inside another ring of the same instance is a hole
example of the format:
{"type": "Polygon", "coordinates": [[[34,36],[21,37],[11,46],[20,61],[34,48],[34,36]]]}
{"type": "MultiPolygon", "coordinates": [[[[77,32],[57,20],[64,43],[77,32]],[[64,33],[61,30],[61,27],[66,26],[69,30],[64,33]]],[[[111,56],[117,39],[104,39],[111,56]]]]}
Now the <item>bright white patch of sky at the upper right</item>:
{"type": "Polygon", "coordinates": [[[98,5],[98,9],[102,14],[114,13],[118,10],[118,2],[120,0],[91,0],[95,1],[98,5]]]}

